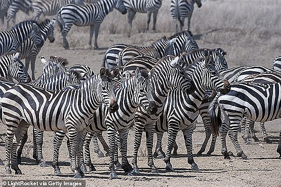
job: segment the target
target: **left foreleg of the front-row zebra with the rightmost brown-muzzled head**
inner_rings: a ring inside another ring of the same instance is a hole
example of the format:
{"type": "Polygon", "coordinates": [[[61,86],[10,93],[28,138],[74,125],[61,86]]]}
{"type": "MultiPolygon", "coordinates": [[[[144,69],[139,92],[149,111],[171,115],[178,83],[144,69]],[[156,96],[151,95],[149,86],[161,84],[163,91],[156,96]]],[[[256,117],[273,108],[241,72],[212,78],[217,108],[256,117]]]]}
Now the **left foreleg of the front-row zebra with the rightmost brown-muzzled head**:
{"type": "MultiPolygon", "coordinates": [[[[178,124],[172,124],[171,126],[172,127],[178,126],[178,124]]],[[[164,162],[166,163],[166,170],[173,171],[173,172],[174,172],[174,168],[171,164],[171,153],[172,153],[172,150],[174,147],[174,143],[176,141],[178,131],[179,131],[178,128],[169,128],[168,127],[168,143],[167,143],[167,151],[166,151],[166,156],[165,156],[164,162]]]]}

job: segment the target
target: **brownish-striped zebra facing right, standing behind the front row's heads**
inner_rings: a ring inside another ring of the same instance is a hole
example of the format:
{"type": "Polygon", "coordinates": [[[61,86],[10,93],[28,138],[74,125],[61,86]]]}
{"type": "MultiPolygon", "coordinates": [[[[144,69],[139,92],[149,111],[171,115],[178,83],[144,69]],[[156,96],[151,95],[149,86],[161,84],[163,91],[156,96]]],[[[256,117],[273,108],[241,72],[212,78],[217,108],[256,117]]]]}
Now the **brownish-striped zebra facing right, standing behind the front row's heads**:
{"type": "Polygon", "coordinates": [[[169,49],[171,48],[173,42],[175,42],[176,38],[171,40],[167,39],[166,36],[156,40],[150,46],[146,48],[138,48],[136,46],[128,46],[127,48],[123,49],[119,52],[118,56],[116,57],[116,64],[117,66],[123,66],[126,64],[130,59],[139,56],[139,55],[148,55],[156,58],[163,58],[168,54],[169,49]]]}

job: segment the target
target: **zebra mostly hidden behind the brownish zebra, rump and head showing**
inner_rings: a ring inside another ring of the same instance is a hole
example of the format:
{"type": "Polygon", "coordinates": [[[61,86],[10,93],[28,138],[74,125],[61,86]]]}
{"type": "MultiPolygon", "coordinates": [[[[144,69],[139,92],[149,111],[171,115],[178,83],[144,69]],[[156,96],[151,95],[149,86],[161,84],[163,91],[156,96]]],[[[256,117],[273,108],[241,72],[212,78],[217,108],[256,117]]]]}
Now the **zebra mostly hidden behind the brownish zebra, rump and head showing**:
{"type": "MultiPolygon", "coordinates": [[[[168,39],[172,40],[173,38],[177,38],[173,42],[173,49],[168,50],[168,54],[173,54],[174,56],[179,56],[183,52],[190,52],[192,50],[198,49],[198,44],[192,37],[192,33],[190,31],[184,30],[182,32],[178,32],[172,36],[170,36],[168,39]]],[[[103,64],[102,66],[112,69],[113,67],[117,66],[116,64],[116,58],[123,49],[127,47],[134,47],[134,45],[129,44],[113,44],[111,45],[104,53],[103,56],[103,64]]],[[[137,46],[139,49],[145,49],[146,46],[141,47],[137,46]]]]}

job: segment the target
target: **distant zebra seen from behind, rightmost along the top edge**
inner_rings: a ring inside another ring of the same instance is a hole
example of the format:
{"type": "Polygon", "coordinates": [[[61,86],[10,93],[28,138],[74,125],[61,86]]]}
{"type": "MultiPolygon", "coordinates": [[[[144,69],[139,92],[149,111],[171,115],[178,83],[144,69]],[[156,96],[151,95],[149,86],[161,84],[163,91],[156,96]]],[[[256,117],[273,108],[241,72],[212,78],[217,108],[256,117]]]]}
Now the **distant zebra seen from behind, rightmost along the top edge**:
{"type": "Polygon", "coordinates": [[[187,29],[190,30],[190,20],[194,9],[194,3],[196,3],[199,8],[202,6],[201,0],[171,0],[170,11],[176,26],[176,32],[178,31],[177,20],[179,20],[180,30],[182,30],[186,17],[188,17],[187,29]]]}

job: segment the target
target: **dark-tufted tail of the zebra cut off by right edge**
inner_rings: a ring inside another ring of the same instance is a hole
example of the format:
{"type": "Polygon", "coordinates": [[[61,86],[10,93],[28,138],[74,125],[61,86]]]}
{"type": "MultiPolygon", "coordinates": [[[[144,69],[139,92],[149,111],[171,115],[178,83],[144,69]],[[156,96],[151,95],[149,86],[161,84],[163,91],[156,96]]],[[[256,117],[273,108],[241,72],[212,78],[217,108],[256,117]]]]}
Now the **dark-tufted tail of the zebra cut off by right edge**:
{"type": "Polygon", "coordinates": [[[219,129],[221,125],[221,111],[220,108],[218,108],[218,116],[216,115],[216,106],[218,102],[218,98],[220,97],[221,93],[218,92],[214,100],[210,103],[210,106],[208,108],[208,114],[210,117],[210,123],[211,123],[211,131],[212,133],[219,135],[219,129]]]}

